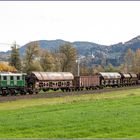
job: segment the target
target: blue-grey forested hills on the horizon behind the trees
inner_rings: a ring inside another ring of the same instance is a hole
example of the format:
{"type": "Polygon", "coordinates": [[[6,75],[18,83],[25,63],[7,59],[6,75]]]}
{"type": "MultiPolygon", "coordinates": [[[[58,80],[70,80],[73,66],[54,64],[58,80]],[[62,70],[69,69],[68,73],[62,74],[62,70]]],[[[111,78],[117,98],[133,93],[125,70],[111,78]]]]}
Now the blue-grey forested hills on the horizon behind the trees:
{"type": "MultiPolygon", "coordinates": [[[[33,42],[38,42],[42,49],[47,49],[48,51],[54,52],[58,50],[60,45],[65,44],[68,41],[57,39],[37,40],[33,42]]],[[[128,48],[131,48],[133,51],[140,48],[140,36],[137,36],[127,42],[120,42],[110,46],[86,41],[75,41],[69,43],[71,43],[77,49],[79,56],[94,56],[94,60],[92,62],[93,64],[101,64],[102,60],[105,60],[104,65],[111,63],[114,66],[118,66],[123,62],[124,53],[128,50],[128,48]]],[[[28,43],[20,47],[21,55],[24,54],[27,45],[28,43]]],[[[0,54],[0,60],[7,60],[10,51],[7,51],[6,53],[0,52],[0,54]]]]}

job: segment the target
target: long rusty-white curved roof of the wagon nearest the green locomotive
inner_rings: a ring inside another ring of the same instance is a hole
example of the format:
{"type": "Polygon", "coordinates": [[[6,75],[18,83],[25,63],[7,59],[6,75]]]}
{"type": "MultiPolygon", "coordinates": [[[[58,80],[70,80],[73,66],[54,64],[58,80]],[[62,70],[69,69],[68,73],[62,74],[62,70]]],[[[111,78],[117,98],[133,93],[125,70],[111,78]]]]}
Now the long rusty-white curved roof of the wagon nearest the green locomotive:
{"type": "Polygon", "coordinates": [[[73,80],[70,72],[32,72],[38,80],[73,80]]]}

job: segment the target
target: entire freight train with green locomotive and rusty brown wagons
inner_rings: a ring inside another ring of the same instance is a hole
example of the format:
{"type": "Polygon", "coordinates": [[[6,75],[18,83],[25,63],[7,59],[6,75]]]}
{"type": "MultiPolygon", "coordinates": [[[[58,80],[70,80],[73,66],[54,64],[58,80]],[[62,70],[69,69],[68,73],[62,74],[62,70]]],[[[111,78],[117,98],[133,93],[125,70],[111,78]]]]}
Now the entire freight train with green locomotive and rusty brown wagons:
{"type": "Polygon", "coordinates": [[[0,73],[0,95],[25,95],[39,91],[95,90],[140,84],[140,74],[100,72],[92,76],[74,76],[70,72],[0,73]]]}

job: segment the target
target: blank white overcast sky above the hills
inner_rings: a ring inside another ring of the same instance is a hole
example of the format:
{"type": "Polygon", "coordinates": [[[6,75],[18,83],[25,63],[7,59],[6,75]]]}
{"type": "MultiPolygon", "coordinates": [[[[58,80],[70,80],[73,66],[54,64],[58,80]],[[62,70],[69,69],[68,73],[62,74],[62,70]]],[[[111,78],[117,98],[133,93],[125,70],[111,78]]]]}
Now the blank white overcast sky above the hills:
{"type": "Polygon", "coordinates": [[[16,41],[88,41],[102,45],[140,35],[140,1],[0,1],[0,51],[16,41]]]}

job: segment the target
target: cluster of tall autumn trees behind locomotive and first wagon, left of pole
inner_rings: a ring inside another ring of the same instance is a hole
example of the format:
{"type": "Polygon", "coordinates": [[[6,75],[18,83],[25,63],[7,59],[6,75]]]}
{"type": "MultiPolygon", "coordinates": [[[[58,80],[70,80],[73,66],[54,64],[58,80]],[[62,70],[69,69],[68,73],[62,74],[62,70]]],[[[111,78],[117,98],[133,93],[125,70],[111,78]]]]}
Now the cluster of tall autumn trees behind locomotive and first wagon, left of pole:
{"type": "Polygon", "coordinates": [[[31,71],[62,71],[75,73],[76,49],[70,44],[61,45],[55,52],[41,49],[38,42],[31,42],[25,49],[24,56],[20,56],[16,44],[11,47],[9,64],[17,71],[30,73],[31,71]]]}

